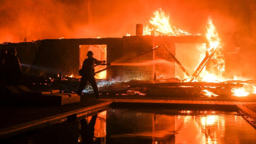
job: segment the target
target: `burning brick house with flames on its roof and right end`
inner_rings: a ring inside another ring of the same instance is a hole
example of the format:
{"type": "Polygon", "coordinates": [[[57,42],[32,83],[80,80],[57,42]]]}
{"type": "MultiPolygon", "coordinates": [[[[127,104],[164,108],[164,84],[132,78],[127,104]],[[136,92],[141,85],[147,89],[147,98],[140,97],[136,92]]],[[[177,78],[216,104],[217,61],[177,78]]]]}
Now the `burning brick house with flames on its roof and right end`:
{"type": "MultiPolygon", "coordinates": [[[[155,82],[173,82],[172,79],[178,79],[178,82],[214,83],[227,80],[224,49],[211,18],[207,23],[206,34],[192,35],[171,26],[169,16],[161,9],[154,12],[149,25],[136,25],[135,36],[127,33],[121,38],[60,38],[21,43],[5,42],[0,47],[16,47],[23,72],[32,75],[80,78],[78,71],[87,57],[87,51],[91,50],[95,58],[106,59],[106,62],[111,64],[95,67],[97,79],[154,79],[155,82]]],[[[231,88],[240,87],[221,85],[219,88],[226,88],[228,91],[221,94],[230,95],[231,88]]]]}

